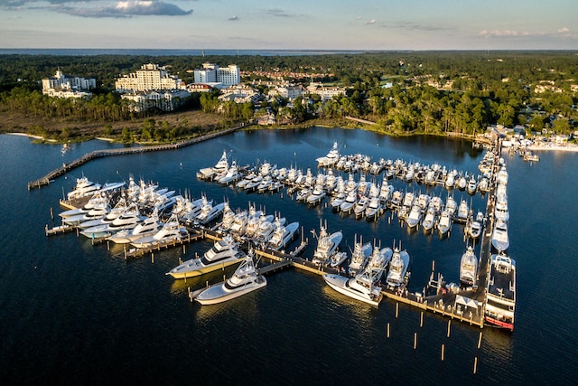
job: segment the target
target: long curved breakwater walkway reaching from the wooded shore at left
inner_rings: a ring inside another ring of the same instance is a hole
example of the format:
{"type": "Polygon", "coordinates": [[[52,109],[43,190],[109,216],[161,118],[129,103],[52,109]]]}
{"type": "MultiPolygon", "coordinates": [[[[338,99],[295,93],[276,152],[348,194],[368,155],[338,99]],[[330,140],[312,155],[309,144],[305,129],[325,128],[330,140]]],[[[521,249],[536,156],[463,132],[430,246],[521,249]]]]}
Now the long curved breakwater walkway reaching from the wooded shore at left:
{"type": "Polygon", "coordinates": [[[52,170],[51,172],[43,175],[42,177],[38,178],[37,180],[30,181],[28,183],[28,190],[32,190],[34,188],[42,188],[42,186],[46,186],[50,184],[51,180],[60,177],[63,174],[70,172],[70,170],[79,167],[80,165],[84,165],[89,161],[97,158],[101,158],[104,156],[111,156],[111,155],[129,155],[135,153],[144,153],[144,152],[156,152],[156,151],[165,151],[165,150],[174,150],[180,149],[181,147],[190,146],[194,144],[198,144],[199,142],[206,141],[212,139],[214,137],[224,136],[229,133],[238,130],[239,128],[247,127],[251,124],[241,124],[237,127],[230,127],[226,130],[221,130],[215,133],[210,133],[200,137],[194,137],[186,141],[177,142],[174,144],[165,144],[165,145],[154,145],[154,146],[136,146],[136,147],[123,147],[117,149],[108,149],[108,150],[95,150],[93,152],[87,153],[82,155],[81,157],[75,159],[74,161],[70,162],[70,164],[62,164],[61,167],[52,170]]]}

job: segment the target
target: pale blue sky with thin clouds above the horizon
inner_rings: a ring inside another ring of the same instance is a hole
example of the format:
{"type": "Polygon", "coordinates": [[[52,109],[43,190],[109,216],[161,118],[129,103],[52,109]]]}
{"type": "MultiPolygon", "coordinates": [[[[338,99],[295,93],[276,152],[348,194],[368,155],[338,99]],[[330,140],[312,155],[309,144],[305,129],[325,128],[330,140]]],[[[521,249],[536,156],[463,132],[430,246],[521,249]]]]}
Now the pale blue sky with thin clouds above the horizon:
{"type": "Polygon", "coordinates": [[[0,0],[0,48],[578,50],[578,0],[0,0]]]}

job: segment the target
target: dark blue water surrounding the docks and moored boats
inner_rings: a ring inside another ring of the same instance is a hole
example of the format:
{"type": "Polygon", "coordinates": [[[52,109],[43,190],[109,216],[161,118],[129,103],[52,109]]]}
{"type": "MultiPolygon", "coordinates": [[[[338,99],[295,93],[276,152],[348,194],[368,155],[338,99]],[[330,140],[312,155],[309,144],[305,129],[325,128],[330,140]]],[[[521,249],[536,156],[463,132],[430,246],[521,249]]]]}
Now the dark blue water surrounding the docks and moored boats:
{"type": "MultiPolygon", "coordinates": [[[[482,156],[467,142],[442,138],[390,138],[340,128],[238,132],[177,151],[107,157],[90,162],[42,190],[26,183],[63,162],[98,148],[100,141],[61,146],[33,144],[26,137],[0,136],[0,380],[3,383],[191,383],[224,384],[409,384],[570,383],[578,371],[578,301],[573,295],[578,270],[575,219],[578,207],[578,154],[540,153],[540,162],[505,155],[508,163],[510,255],[517,260],[517,320],[513,334],[452,322],[385,300],[379,308],[342,297],[321,277],[284,270],[268,285],[219,306],[191,304],[187,287],[222,279],[175,281],[164,275],[207,242],[125,261],[74,233],[47,238],[50,209],[84,174],[99,183],[135,178],[156,181],[177,192],[189,190],[233,208],[248,202],[300,221],[304,234],[327,221],[343,231],[342,248],[356,235],[401,241],[412,258],[410,290],[425,285],[436,270],[457,281],[464,249],[461,226],[439,240],[408,232],[387,217],[377,223],[331,213],[322,205],[307,208],[283,194],[247,194],[195,178],[214,165],[223,150],[240,164],[264,160],[281,166],[312,167],[333,141],[341,153],[445,165],[477,172],[482,156]],[[390,337],[387,338],[387,323],[390,337]],[[413,349],[418,334],[417,350],[413,349]],[[445,346],[445,361],[440,359],[445,346]],[[474,358],[478,373],[473,374],[474,358]]],[[[423,186],[395,181],[415,192],[423,186]]],[[[447,193],[441,188],[433,194],[447,193]]],[[[485,208],[485,198],[454,192],[454,198],[485,208]]],[[[295,244],[294,244],[295,245],[295,244]]],[[[293,247],[294,247],[293,245],[293,247]]],[[[314,242],[305,250],[311,256],[314,242]]],[[[225,272],[228,273],[229,271],[225,272]]]]}

